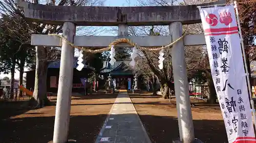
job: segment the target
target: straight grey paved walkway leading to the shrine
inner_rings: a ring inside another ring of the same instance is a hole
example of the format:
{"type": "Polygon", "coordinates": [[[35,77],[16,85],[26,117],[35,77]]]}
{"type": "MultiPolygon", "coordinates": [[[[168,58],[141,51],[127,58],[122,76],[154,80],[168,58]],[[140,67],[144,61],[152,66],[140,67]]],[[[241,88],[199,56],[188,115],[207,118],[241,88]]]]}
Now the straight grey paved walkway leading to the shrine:
{"type": "Polygon", "coordinates": [[[119,93],[95,141],[151,143],[127,92],[119,93]]]}

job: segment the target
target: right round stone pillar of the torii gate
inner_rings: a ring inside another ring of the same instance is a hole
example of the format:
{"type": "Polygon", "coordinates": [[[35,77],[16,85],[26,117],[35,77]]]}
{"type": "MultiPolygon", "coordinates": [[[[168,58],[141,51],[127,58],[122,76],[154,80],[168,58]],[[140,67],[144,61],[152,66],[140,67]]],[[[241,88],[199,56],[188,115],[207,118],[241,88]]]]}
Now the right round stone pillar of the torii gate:
{"type": "MultiPolygon", "coordinates": [[[[173,22],[169,26],[173,41],[182,36],[182,23],[173,22]]],[[[183,40],[179,40],[172,48],[172,63],[175,83],[176,106],[180,141],[192,143],[195,141],[194,126],[188,93],[187,70],[183,40]]]]}

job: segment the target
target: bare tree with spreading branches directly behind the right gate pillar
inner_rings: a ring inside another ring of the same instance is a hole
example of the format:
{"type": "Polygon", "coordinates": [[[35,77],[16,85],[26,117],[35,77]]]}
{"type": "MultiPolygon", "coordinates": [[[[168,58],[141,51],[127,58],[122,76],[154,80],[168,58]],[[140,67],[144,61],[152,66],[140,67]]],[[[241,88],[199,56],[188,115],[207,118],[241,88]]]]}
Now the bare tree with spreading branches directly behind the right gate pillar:
{"type": "MultiPolygon", "coordinates": [[[[179,1],[164,1],[164,0],[148,0],[148,1],[138,1],[140,6],[172,6],[178,4],[179,1]]],[[[202,31],[201,26],[198,28],[198,25],[189,25],[187,29],[193,27],[194,32],[202,31]]],[[[185,28],[184,28],[185,29],[185,28]]],[[[117,28],[113,27],[113,32],[117,33],[117,28]]],[[[191,33],[190,31],[187,31],[191,33]]],[[[129,27],[129,35],[130,36],[150,36],[150,35],[169,35],[168,26],[130,26],[129,27]]],[[[171,48],[171,47],[170,47],[171,48]]],[[[172,73],[172,55],[170,54],[170,48],[165,49],[165,61],[163,70],[159,70],[158,68],[158,52],[148,52],[148,51],[141,51],[143,56],[140,56],[140,61],[138,62],[140,66],[140,71],[145,71],[144,74],[146,76],[153,75],[152,81],[155,80],[154,77],[159,81],[161,91],[164,98],[168,97],[168,89],[174,90],[174,83],[173,81],[173,73],[172,73]],[[143,66],[142,66],[143,65],[143,66]],[[148,72],[150,71],[150,72],[148,72]]],[[[187,62],[187,71],[193,72],[198,68],[198,61],[201,58],[203,53],[202,47],[186,47],[185,48],[185,56],[187,62]],[[193,52],[193,50],[197,52],[193,52]]],[[[138,68],[136,67],[136,68],[138,68]]],[[[191,75],[191,74],[190,74],[191,75]]]]}

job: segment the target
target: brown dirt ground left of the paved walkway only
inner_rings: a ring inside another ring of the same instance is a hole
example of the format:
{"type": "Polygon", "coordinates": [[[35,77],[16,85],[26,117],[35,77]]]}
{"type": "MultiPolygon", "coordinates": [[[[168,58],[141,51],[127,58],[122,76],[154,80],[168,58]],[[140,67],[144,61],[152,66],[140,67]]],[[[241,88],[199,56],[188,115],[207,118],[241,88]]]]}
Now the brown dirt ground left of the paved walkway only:
{"type": "MultiPolygon", "coordinates": [[[[94,142],[117,95],[72,97],[69,138],[94,142]],[[97,105],[97,106],[96,106],[97,105]]],[[[56,97],[51,97],[56,102],[56,97]]],[[[0,101],[1,143],[46,143],[53,138],[55,106],[20,109],[27,101],[0,101]]]]}

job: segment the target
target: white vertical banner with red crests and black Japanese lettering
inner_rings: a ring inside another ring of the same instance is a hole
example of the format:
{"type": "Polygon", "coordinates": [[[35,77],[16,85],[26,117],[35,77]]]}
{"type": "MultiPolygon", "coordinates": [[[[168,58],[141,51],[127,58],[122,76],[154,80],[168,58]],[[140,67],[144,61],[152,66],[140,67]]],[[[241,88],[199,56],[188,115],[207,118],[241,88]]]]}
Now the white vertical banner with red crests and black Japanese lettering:
{"type": "Polygon", "coordinates": [[[255,143],[234,7],[199,7],[199,10],[228,142],[255,143]]]}

